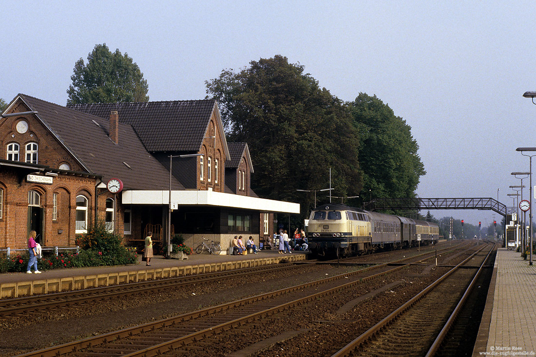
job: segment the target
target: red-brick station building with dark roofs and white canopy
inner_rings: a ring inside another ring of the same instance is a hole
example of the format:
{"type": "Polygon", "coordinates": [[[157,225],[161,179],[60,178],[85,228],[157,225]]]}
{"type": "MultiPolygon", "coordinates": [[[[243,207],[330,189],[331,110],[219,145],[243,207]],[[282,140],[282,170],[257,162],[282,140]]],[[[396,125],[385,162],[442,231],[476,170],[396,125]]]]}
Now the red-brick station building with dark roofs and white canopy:
{"type": "Polygon", "coordinates": [[[205,237],[226,250],[300,211],[251,190],[248,145],[227,143],[214,100],[68,108],[18,94],[0,120],[0,249],[25,248],[30,230],[73,247],[96,217],[126,244],[148,231],[161,244],[169,226],[190,247],[205,237]]]}

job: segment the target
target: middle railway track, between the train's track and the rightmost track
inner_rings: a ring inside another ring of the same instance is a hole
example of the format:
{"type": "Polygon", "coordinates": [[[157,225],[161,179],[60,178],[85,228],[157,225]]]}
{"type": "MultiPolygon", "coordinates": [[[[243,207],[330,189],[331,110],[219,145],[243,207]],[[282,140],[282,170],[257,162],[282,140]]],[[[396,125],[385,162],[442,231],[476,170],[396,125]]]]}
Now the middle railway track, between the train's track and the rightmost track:
{"type": "MultiPolygon", "coordinates": [[[[445,248],[444,251],[453,249],[456,248],[449,247],[445,248]]],[[[280,311],[292,309],[295,306],[336,293],[349,286],[382,277],[390,272],[403,269],[405,266],[422,263],[434,257],[435,252],[427,252],[405,258],[405,265],[391,267],[388,265],[397,262],[390,262],[371,266],[356,272],[340,274],[327,279],[260,294],[251,298],[42,349],[21,356],[56,356],[61,354],[70,356],[161,355],[188,345],[192,341],[198,341],[243,324],[259,321],[280,311]],[[382,267],[383,269],[381,269],[382,267]],[[376,274],[370,273],[378,269],[384,271],[376,274]],[[364,276],[364,274],[368,275],[364,276]]]]}

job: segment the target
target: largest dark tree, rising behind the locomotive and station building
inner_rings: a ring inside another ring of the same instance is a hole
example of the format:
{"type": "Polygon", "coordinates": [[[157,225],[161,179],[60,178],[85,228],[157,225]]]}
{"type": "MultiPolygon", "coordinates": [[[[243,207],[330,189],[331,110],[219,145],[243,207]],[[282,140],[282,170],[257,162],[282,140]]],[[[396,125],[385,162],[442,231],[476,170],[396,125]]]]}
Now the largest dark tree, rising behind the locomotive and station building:
{"type": "MultiPolygon", "coordinates": [[[[231,142],[247,142],[260,196],[302,203],[307,214],[314,195],[297,189],[355,196],[361,190],[358,135],[345,104],[331,95],[300,64],[286,57],[250,62],[240,72],[224,70],[206,82],[207,98],[219,102],[231,142]]],[[[318,203],[325,202],[318,192],[318,203]]]]}

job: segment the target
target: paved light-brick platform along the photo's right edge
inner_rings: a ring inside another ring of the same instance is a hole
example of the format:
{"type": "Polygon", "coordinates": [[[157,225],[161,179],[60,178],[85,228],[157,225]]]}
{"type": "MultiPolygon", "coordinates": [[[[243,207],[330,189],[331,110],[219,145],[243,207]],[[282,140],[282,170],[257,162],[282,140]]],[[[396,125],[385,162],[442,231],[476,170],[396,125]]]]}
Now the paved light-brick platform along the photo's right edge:
{"type": "MultiPolygon", "coordinates": [[[[534,258],[534,256],[533,256],[534,258]]],[[[536,263],[497,250],[473,356],[536,355],[536,263]]]]}

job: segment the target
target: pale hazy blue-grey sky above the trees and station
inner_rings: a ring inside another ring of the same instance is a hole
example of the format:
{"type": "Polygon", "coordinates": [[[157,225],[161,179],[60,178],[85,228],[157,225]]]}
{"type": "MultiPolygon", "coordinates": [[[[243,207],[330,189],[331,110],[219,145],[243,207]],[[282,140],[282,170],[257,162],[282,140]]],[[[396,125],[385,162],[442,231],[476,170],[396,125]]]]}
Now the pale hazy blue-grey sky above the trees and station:
{"type": "MultiPolygon", "coordinates": [[[[529,169],[516,148],[536,146],[536,106],[522,96],[536,91],[531,1],[0,4],[8,102],[25,93],[65,105],[75,62],[98,43],[133,58],[152,101],[203,99],[205,80],[223,69],[280,54],[338,98],[376,94],[411,125],[427,171],[420,197],[497,198],[500,189],[512,206],[509,185],[520,181],[510,173],[529,169]]],[[[494,214],[431,213],[475,225],[494,214]]]]}

